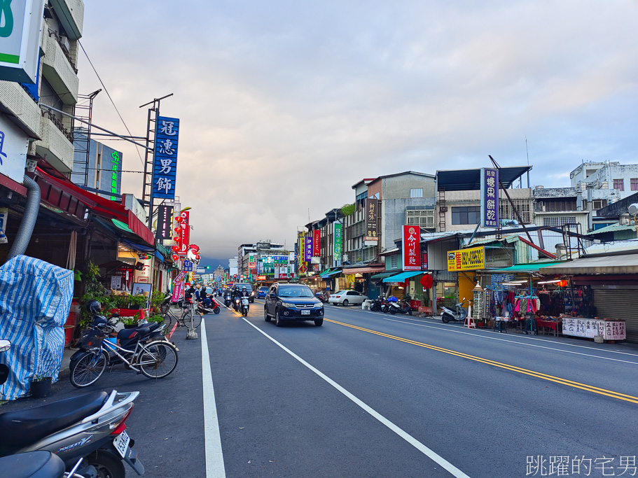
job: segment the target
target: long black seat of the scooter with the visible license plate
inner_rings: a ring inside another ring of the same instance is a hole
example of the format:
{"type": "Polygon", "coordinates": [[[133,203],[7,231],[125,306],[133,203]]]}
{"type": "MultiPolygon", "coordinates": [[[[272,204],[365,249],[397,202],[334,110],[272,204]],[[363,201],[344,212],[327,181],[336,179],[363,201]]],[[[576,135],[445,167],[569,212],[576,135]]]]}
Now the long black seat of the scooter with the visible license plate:
{"type": "Polygon", "coordinates": [[[0,414],[0,447],[19,450],[97,412],[109,394],[83,393],[40,407],[0,414]]]}

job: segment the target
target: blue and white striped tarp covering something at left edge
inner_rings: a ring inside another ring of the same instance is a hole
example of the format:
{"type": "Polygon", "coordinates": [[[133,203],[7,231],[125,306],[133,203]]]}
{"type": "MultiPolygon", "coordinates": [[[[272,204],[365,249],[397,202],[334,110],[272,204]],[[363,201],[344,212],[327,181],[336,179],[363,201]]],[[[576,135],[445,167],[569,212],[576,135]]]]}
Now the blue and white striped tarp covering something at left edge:
{"type": "Polygon", "coordinates": [[[0,267],[0,339],[11,341],[11,349],[0,353],[10,370],[0,400],[27,395],[34,377],[57,381],[73,281],[72,271],[26,255],[0,267]]]}

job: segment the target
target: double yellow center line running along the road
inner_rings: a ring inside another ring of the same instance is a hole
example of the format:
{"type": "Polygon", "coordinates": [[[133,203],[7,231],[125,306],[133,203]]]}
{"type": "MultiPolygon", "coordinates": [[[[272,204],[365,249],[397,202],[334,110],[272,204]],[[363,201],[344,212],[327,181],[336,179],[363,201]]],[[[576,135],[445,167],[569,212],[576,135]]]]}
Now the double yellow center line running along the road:
{"type": "Polygon", "coordinates": [[[598,387],[587,385],[587,384],[581,384],[580,382],[577,382],[577,381],[562,379],[560,377],[554,377],[553,375],[543,374],[541,372],[534,372],[534,370],[527,370],[525,368],[516,367],[515,365],[508,365],[506,363],[495,362],[494,360],[489,360],[487,358],[472,356],[467,353],[457,352],[450,349],[443,349],[442,347],[424,344],[423,342],[416,342],[415,340],[404,339],[403,337],[397,337],[396,335],[389,335],[383,332],[377,332],[376,330],[370,330],[363,327],[358,327],[356,325],[352,325],[349,323],[333,321],[330,318],[324,318],[324,321],[332,322],[338,325],[343,325],[345,327],[349,327],[356,330],[361,330],[362,332],[368,332],[370,334],[379,335],[380,337],[386,337],[388,339],[398,340],[399,342],[405,342],[406,344],[424,347],[424,349],[430,349],[430,350],[434,350],[438,352],[448,353],[452,356],[466,358],[468,360],[474,360],[475,362],[485,363],[486,365],[492,365],[493,367],[499,367],[505,370],[511,370],[512,372],[518,372],[520,374],[529,375],[530,377],[536,377],[537,379],[553,381],[556,384],[567,385],[569,387],[574,387],[574,388],[580,388],[581,390],[588,391],[591,393],[597,393],[598,395],[605,395],[606,397],[617,398],[618,400],[624,400],[625,402],[632,402],[632,403],[638,404],[638,397],[634,397],[633,395],[625,395],[625,393],[618,393],[611,390],[606,390],[605,388],[598,388],[598,387]]]}

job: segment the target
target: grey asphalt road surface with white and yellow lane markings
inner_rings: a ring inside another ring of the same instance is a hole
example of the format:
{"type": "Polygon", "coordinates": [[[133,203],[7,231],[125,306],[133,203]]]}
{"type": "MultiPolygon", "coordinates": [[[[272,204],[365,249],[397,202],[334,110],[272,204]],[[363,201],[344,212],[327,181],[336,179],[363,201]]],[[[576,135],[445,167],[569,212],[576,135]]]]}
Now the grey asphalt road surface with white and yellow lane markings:
{"type": "MultiPolygon", "coordinates": [[[[141,392],[127,424],[146,476],[635,474],[634,345],[358,307],[326,306],[322,327],[277,328],[261,300],[247,318],[222,309],[204,323],[205,344],[176,332],[179,365],[167,379],[116,367],[99,383],[141,392]]],[[[78,393],[62,382],[55,399],[78,393]]]]}

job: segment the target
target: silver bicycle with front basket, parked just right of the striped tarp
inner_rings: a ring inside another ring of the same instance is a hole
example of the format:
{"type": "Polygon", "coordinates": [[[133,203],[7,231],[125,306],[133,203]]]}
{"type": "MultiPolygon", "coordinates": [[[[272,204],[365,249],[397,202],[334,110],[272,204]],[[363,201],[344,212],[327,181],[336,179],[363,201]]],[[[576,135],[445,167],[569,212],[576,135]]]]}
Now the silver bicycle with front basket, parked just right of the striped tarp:
{"type": "MultiPolygon", "coordinates": [[[[102,377],[107,365],[115,365],[119,359],[127,368],[144,374],[149,379],[163,379],[177,367],[177,347],[165,340],[137,337],[123,341],[127,349],[105,340],[115,330],[112,323],[97,323],[83,335],[80,353],[74,354],[69,367],[71,384],[77,388],[95,384],[102,377]],[[121,353],[120,353],[121,352],[121,353]],[[116,356],[114,358],[111,356],[116,356]]],[[[152,333],[152,332],[151,332],[152,333]]]]}

